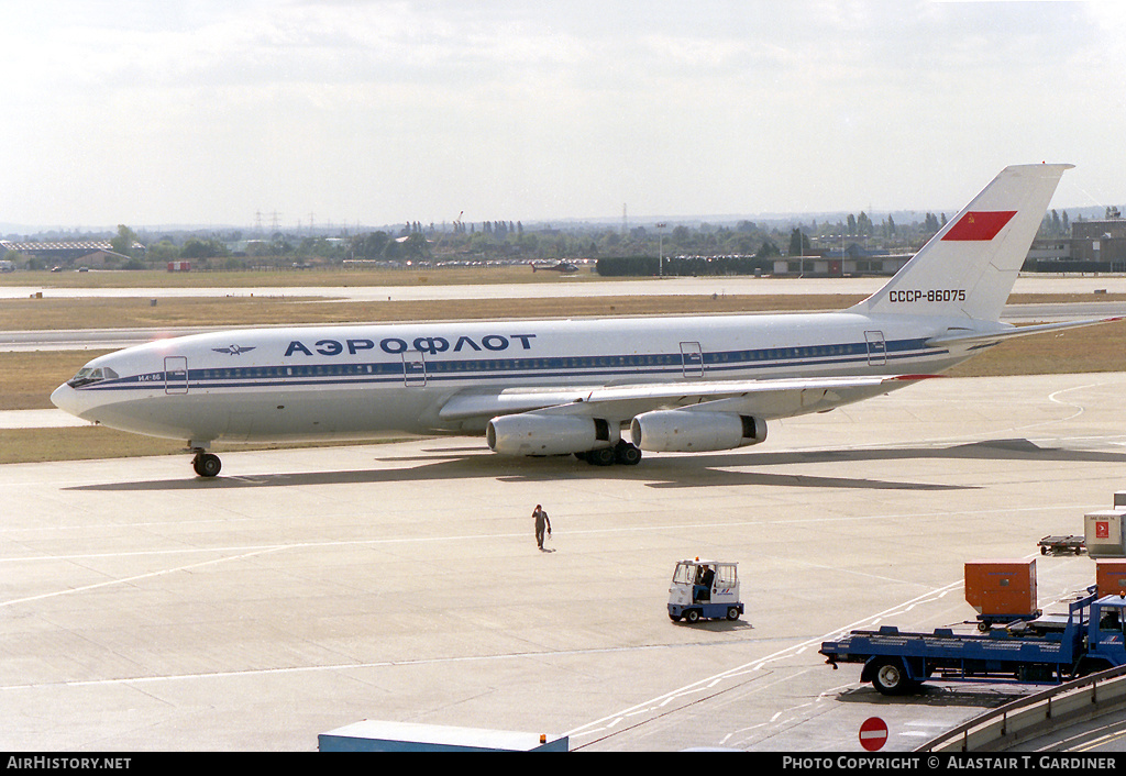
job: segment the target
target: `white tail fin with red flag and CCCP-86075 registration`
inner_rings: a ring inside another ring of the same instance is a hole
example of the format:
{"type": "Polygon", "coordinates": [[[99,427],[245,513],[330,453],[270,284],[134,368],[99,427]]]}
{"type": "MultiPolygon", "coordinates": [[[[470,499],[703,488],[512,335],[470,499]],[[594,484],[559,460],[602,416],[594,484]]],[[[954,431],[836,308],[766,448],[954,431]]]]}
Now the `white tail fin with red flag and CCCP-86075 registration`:
{"type": "Polygon", "coordinates": [[[1060,177],[1072,167],[1007,167],[852,310],[999,320],[1060,177]]]}

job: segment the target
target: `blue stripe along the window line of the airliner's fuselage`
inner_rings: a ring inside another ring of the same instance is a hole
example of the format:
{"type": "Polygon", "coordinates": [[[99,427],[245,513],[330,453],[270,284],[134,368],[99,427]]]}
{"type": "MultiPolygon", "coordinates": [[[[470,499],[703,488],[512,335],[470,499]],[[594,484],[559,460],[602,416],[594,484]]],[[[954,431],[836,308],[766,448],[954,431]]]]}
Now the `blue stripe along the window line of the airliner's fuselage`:
{"type": "MultiPolygon", "coordinates": [[[[945,356],[945,349],[928,348],[923,339],[885,342],[884,351],[873,354],[885,363],[921,356],[945,356]]],[[[761,348],[703,354],[703,369],[707,375],[731,372],[767,372],[811,366],[869,365],[868,344],[804,346],[793,348],[761,348]]],[[[676,354],[631,356],[578,356],[544,358],[483,358],[426,362],[418,377],[429,382],[455,382],[470,377],[568,378],[568,377],[681,377],[686,365],[683,356],[676,354]]],[[[688,365],[687,368],[699,368],[688,365]]],[[[166,384],[166,373],[152,372],[117,380],[106,380],[83,385],[79,390],[132,391],[166,384]]],[[[292,366],[215,367],[189,369],[187,383],[193,389],[220,387],[286,387],[302,385],[375,385],[401,384],[404,380],[402,362],[368,364],[320,364],[292,366]]],[[[185,383],[182,373],[173,376],[176,385],[185,383]]]]}

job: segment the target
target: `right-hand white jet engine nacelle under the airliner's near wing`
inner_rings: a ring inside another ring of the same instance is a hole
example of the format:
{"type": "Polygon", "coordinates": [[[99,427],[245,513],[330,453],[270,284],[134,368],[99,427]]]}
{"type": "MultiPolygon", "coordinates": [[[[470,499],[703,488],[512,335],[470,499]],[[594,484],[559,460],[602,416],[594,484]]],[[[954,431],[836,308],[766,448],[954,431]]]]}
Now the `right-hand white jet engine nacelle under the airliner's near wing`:
{"type": "Polygon", "coordinates": [[[767,423],[735,412],[656,410],[634,418],[629,435],[643,451],[703,453],[757,445],[767,438],[767,423]]]}

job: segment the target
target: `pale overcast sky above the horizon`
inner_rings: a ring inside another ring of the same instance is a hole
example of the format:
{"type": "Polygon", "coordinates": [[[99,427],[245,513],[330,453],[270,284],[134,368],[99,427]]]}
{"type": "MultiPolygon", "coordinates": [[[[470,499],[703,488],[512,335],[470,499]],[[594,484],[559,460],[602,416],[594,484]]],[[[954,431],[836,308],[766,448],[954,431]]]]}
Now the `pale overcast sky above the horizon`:
{"type": "Polygon", "coordinates": [[[1007,164],[1126,204],[1126,3],[0,7],[0,223],[951,214],[1007,164]]]}

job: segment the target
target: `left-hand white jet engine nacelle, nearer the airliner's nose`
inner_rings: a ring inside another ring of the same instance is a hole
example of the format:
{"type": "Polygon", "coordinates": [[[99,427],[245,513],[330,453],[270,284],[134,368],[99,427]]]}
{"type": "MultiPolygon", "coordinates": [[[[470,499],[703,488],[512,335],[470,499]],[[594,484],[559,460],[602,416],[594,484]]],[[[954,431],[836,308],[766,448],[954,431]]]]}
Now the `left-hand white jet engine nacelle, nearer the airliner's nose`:
{"type": "Polygon", "coordinates": [[[530,412],[493,418],[485,439],[504,455],[568,455],[610,446],[605,420],[530,412]]]}

